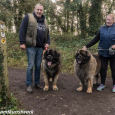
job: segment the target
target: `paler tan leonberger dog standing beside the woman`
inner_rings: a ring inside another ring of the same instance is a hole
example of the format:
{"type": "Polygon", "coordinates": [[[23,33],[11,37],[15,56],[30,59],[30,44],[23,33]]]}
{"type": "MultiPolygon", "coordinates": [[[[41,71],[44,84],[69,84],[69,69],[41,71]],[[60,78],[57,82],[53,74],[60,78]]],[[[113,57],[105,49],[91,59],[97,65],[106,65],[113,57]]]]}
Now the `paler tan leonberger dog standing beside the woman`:
{"type": "Polygon", "coordinates": [[[98,54],[92,55],[88,50],[78,50],[75,54],[74,70],[80,86],[76,90],[82,91],[87,82],[87,93],[92,93],[94,78],[98,77],[100,68],[101,61],[98,54]]]}

